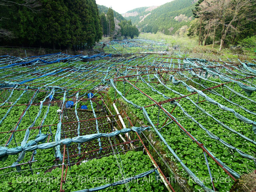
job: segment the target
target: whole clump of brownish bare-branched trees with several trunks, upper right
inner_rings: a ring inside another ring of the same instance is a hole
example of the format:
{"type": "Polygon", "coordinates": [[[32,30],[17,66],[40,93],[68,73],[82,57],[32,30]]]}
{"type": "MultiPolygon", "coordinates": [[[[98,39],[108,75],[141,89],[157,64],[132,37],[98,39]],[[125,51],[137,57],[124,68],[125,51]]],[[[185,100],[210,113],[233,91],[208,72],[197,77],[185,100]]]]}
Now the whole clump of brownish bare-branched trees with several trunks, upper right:
{"type": "Polygon", "coordinates": [[[193,10],[197,20],[191,24],[189,34],[199,36],[199,44],[213,37],[223,44],[237,44],[245,37],[256,34],[255,0],[200,0],[193,10]]]}

